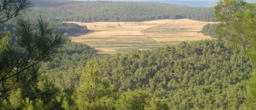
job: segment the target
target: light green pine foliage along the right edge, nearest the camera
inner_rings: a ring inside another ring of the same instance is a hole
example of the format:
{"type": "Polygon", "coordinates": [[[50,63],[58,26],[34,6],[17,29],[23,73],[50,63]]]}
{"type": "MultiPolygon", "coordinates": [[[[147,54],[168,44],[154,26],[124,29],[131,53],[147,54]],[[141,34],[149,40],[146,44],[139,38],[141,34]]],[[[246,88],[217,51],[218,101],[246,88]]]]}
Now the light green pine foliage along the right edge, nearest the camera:
{"type": "Polygon", "coordinates": [[[217,37],[226,40],[233,49],[246,50],[252,59],[254,70],[248,82],[248,102],[256,109],[256,4],[244,0],[220,0],[215,7],[217,18],[217,37]]]}

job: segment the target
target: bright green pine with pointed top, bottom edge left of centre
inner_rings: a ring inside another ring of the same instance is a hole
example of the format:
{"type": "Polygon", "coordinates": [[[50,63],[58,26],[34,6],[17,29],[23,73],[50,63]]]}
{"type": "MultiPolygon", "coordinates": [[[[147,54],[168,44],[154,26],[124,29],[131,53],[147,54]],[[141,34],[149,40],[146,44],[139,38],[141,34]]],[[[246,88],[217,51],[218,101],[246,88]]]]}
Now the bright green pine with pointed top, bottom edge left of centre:
{"type": "Polygon", "coordinates": [[[117,89],[109,81],[99,78],[96,63],[88,63],[82,73],[77,88],[77,107],[79,110],[112,110],[117,89]]]}

